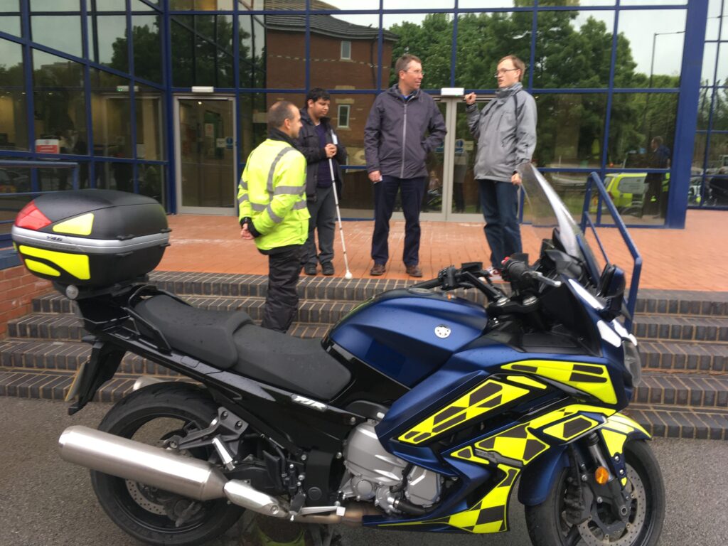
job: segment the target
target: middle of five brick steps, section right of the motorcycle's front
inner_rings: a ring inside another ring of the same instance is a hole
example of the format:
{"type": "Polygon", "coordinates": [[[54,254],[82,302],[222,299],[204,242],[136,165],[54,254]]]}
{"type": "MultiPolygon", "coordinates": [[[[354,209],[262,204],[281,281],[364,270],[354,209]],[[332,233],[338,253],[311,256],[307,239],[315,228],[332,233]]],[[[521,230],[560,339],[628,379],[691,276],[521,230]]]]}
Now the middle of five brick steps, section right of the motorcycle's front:
{"type": "Polygon", "coordinates": [[[645,370],[728,372],[728,344],[641,340],[638,347],[645,370]]]}

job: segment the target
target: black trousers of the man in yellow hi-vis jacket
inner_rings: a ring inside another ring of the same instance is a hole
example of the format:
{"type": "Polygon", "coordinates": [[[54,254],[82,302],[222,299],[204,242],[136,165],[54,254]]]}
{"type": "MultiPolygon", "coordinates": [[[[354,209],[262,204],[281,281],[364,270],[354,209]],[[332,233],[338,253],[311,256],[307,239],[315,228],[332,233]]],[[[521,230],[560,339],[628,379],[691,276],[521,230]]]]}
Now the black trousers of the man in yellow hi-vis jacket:
{"type": "Polygon", "coordinates": [[[304,245],[291,245],[264,252],[268,255],[268,295],[263,310],[263,328],[286,332],[298,310],[298,275],[304,245]]]}

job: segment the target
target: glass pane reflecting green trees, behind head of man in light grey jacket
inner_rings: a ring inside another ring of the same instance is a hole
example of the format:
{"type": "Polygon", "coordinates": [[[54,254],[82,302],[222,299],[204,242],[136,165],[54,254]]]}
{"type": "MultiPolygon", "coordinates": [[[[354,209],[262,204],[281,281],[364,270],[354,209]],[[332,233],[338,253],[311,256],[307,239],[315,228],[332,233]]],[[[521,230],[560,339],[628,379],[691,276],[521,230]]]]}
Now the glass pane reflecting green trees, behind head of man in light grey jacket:
{"type": "MultiPolygon", "coordinates": [[[[531,56],[531,21],[529,12],[468,13],[458,20],[455,84],[466,89],[498,87],[493,74],[505,55],[523,60],[531,56]],[[520,31],[514,34],[513,29],[520,31]],[[511,36],[504,40],[503,36],[511,36]]],[[[529,67],[526,67],[526,71],[529,67]]],[[[528,81],[528,75],[523,76],[528,81]]]]}

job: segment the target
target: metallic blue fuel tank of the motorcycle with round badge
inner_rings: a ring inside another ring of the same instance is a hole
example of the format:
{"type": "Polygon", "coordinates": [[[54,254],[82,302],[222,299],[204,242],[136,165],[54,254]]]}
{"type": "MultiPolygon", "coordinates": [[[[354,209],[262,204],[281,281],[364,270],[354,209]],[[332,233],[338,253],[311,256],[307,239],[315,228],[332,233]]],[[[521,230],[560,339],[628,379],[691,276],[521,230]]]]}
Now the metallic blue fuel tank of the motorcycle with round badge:
{"type": "Polygon", "coordinates": [[[482,335],[486,309],[451,293],[389,290],[357,306],[329,333],[340,347],[405,387],[482,335]]]}

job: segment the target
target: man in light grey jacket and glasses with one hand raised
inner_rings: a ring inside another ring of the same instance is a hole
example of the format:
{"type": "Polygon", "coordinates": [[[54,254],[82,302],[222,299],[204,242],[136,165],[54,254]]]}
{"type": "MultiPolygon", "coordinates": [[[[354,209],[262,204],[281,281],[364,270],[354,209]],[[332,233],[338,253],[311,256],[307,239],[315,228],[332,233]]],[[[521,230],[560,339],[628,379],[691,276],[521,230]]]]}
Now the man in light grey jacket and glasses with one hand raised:
{"type": "Polygon", "coordinates": [[[467,124],[478,141],[473,167],[486,218],[484,230],[491,248],[491,274],[498,277],[502,261],[521,252],[518,226],[518,167],[531,161],[536,148],[536,101],[523,90],[523,61],[507,55],[498,63],[496,98],[482,111],[475,93],[465,95],[467,124]]]}

